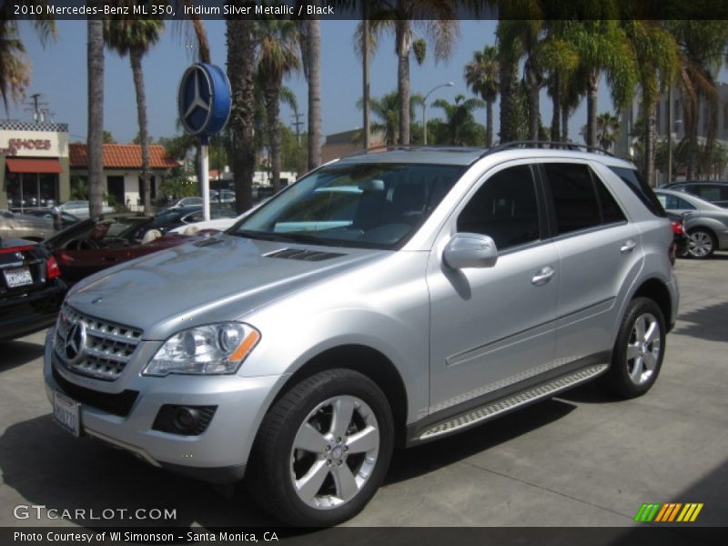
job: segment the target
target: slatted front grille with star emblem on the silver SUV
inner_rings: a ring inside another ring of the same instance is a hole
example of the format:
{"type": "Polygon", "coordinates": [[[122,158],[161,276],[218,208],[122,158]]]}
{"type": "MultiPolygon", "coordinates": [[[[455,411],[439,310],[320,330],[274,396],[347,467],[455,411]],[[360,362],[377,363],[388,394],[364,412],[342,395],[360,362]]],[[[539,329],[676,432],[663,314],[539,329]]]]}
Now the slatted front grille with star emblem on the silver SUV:
{"type": "Polygon", "coordinates": [[[95,379],[113,381],[126,368],[141,337],[140,329],[88,317],[64,305],[56,322],[54,351],[66,369],[95,379]],[[75,325],[78,325],[76,330],[82,329],[82,332],[73,332],[76,335],[76,343],[73,343],[73,339],[68,339],[68,333],[75,325]]]}

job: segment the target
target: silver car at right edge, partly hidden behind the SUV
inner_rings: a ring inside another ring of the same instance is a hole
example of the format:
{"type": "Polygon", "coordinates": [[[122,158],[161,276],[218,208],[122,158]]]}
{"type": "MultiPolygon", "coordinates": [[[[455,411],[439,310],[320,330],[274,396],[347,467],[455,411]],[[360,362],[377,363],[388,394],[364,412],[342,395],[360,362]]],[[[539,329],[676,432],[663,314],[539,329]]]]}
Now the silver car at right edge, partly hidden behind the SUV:
{"type": "Polygon", "coordinates": [[[682,215],[682,227],[690,238],[688,256],[709,258],[715,250],[728,249],[728,209],[683,191],[658,189],[655,194],[662,207],[682,215]]]}

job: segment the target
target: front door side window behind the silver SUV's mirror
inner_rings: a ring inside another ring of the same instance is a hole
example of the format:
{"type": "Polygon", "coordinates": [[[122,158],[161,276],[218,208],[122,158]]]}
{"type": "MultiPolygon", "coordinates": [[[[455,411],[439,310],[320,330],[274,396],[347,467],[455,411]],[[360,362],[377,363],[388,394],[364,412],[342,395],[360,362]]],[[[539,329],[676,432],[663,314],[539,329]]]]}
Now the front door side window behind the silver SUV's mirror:
{"type": "Polygon", "coordinates": [[[460,212],[458,231],[488,235],[499,249],[538,240],[539,207],[531,167],[506,168],[488,178],[460,212]]]}

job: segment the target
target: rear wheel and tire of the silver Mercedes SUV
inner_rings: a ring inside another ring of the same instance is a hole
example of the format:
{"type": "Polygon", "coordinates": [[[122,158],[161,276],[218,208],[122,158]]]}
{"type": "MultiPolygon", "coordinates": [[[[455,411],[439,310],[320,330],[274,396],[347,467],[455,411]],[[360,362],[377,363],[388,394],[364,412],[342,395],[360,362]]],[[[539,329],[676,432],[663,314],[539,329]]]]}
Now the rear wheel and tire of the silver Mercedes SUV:
{"type": "Polygon", "coordinates": [[[634,298],[627,307],[612,351],[612,365],[602,384],[613,394],[632,399],[652,388],[662,368],[665,321],[650,298],[634,298]]]}

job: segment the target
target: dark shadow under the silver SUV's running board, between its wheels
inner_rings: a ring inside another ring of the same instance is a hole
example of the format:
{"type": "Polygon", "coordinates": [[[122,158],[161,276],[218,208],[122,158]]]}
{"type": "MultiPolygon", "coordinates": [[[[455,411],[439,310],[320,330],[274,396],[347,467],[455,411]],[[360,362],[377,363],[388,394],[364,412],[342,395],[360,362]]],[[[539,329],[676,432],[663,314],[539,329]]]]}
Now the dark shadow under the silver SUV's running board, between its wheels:
{"type": "Polygon", "coordinates": [[[556,420],[566,417],[576,406],[568,402],[549,399],[524,408],[490,423],[473,427],[444,440],[411,448],[396,450],[385,484],[439,470],[469,458],[480,451],[489,450],[503,442],[527,434],[556,420]],[[443,449],[447,446],[447,449],[443,449]]]}

